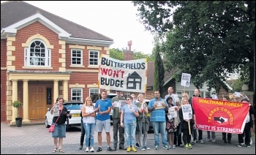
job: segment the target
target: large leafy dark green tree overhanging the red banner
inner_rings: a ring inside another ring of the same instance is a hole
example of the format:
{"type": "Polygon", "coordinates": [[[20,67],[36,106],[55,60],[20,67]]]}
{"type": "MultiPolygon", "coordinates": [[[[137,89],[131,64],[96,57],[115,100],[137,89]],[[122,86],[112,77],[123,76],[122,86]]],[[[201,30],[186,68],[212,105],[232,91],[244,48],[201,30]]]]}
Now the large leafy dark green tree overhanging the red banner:
{"type": "Polygon", "coordinates": [[[166,37],[168,69],[178,67],[198,88],[207,82],[218,91],[230,73],[246,66],[249,91],[255,91],[255,1],[132,3],[146,29],[166,37]]]}

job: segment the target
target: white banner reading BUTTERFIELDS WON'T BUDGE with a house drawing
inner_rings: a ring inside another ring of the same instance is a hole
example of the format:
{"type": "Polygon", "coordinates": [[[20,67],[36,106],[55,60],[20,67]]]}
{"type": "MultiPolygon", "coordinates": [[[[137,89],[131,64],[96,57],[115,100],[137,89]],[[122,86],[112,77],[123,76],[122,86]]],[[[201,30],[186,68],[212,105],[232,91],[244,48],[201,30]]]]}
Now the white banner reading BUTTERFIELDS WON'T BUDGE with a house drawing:
{"type": "Polygon", "coordinates": [[[99,88],[146,92],[146,58],[120,61],[102,54],[99,64],[99,88]]]}

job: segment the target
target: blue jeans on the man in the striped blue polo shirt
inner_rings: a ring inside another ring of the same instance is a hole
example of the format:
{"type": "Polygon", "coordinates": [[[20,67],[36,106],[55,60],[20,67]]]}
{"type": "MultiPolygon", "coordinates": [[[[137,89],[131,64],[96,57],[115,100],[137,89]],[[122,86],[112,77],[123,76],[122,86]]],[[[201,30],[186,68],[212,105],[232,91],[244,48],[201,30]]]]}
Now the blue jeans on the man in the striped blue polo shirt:
{"type": "Polygon", "coordinates": [[[166,122],[165,121],[152,121],[152,126],[154,129],[154,145],[159,145],[159,131],[161,133],[162,137],[162,145],[167,145],[167,135],[165,132],[165,126],[166,122]]]}

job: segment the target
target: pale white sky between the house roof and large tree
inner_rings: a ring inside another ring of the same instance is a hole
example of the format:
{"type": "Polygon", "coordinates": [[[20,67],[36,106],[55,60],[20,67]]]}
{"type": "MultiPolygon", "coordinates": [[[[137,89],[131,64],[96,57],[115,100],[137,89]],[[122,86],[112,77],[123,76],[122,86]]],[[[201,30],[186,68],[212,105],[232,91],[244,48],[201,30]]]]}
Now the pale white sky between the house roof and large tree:
{"type": "MultiPolygon", "coordinates": [[[[4,2],[4,1],[1,1],[4,2]]],[[[78,23],[113,39],[110,48],[128,48],[150,54],[153,35],[138,21],[138,11],[131,1],[26,1],[35,7],[78,23]]]]}

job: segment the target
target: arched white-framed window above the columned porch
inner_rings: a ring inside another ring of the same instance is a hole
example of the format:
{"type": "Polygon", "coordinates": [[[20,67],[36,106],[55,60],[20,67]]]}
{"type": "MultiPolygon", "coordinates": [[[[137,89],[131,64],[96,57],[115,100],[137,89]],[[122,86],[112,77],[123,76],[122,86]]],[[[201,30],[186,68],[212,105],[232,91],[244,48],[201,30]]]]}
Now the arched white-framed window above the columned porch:
{"type": "Polygon", "coordinates": [[[45,47],[45,43],[41,40],[31,42],[29,48],[25,48],[26,67],[50,67],[51,50],[45,47]]]}

